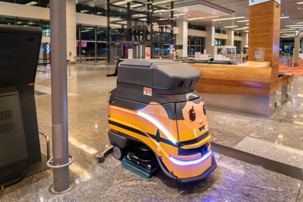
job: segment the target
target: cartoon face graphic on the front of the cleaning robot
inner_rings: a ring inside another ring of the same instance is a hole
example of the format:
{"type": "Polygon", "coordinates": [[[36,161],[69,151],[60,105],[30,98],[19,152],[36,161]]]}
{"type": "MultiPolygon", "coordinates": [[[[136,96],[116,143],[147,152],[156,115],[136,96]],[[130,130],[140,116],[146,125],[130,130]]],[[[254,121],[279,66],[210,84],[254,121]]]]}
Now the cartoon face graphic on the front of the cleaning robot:
{"type": "Polygon", "coordinates": [[[206,108],[204,102],[201,100],[199,103],[187,101],[185,107],[182,109],[182,114],[187,127],[192,129],[195,137],[200,136],[208,130],[206,108]]]}

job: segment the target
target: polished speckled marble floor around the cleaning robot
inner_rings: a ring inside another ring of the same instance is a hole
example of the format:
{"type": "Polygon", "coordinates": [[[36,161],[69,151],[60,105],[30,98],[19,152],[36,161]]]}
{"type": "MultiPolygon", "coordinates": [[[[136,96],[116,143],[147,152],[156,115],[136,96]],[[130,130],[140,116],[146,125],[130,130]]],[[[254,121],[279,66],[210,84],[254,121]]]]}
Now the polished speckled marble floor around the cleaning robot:
{"type": "MultiPolygon", "coordinates": [[[[211,141],[243,156],[233,158],[215,151],[217,169],[204,181],[182,185],[162,171],[145,180],[123,168],[112,154],[96,163],[95,155],[109,145],[107,100],[116,78],[105,75],[114,67],[77,64],[71,69],[68,128],[69,153],[75,157],[70,166],[72,189],[53,194],[49,169],[0,190],[0,201],[303,201],[302,178],[245,160],[245,154],[250,153],[286,168],[303,169],[303,77],[295,76],[292,99],[270,118],[208,108],[211,141]]],[[[39,130],[52,139],[50,78],[50,72],[37,74],[35,99],[39,130]]],[[[46,154],[45,140],[40,141],[46,154]]]]}

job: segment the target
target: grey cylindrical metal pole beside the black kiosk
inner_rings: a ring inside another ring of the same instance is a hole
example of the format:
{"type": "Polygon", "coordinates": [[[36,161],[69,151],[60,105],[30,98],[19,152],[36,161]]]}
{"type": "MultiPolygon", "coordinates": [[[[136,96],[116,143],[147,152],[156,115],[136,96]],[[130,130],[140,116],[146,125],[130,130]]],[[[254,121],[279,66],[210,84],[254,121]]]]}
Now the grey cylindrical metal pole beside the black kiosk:
{"type": "MultiPolygon", "coordinates": [[[[53,165],[68,163],[66,1],[50,0],[53,165]]],[[[69,188],[69,169],[54,169],[54,191],[69,188]]]]}

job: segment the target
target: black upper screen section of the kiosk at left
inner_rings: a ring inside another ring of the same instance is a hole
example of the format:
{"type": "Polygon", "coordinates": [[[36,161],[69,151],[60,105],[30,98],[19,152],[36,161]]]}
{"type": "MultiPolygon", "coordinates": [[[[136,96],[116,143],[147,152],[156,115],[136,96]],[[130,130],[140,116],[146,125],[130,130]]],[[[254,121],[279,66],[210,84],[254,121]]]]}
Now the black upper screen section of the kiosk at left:
{"type": "Polygon", "coordinates": [[[0,25],[0,88],[35,82],[42,29],[0,25]]]}

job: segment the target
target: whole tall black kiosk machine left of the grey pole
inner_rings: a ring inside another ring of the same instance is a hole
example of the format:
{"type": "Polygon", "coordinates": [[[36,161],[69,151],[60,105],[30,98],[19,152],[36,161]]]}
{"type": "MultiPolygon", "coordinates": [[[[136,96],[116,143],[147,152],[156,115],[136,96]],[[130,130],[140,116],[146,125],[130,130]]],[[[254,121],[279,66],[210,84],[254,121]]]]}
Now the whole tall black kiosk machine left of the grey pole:
{"type": "Polygon", "coordinates": [[[0,25],[0,189],[47,169],[34,95],[41,39],[41,28],[0,25]]]}

